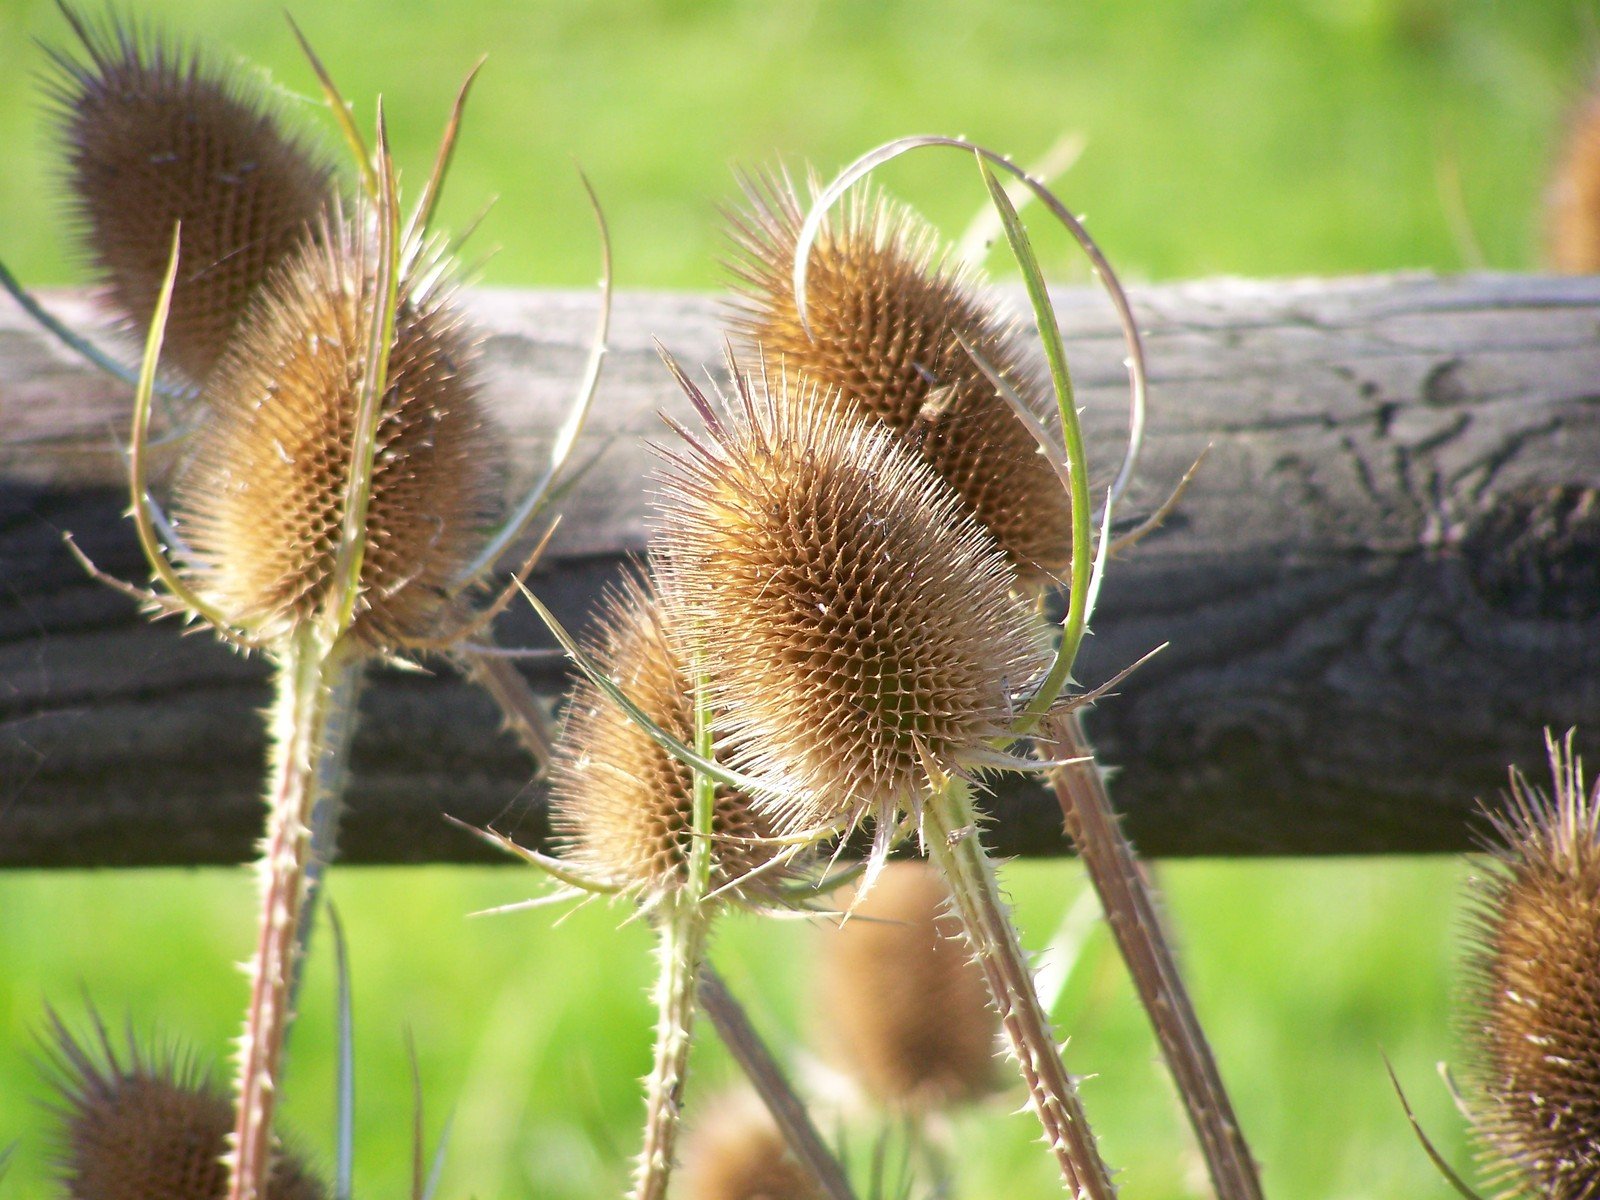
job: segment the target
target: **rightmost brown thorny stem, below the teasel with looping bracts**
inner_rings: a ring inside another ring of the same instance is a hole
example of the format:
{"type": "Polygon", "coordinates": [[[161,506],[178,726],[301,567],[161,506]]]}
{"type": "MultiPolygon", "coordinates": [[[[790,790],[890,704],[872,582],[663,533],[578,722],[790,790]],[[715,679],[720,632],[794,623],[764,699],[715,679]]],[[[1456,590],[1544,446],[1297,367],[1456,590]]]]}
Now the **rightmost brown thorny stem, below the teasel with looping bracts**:
{"type": "MultiPolygon", "coordinates": [[[[1053,739],[1042,739],[1051,758],[1085,758],[1093,754],[1075,712],[1058,718],[1053,731],[1053,739]]],[[[1162,1054],[1178,1083],[1189,1123],[1211,1173],[1211,1186],[1221,1200],[1261,1200],[1254,1160],[1162,933],[1155,898],[1112,811],[1099,765],[1088,760],[1058,766],[1050,781],[1061,802],[1067,835],[1078,848],[1094,891],[1099,893],[1106,922],[1128,963],[1162,1054]]]]}

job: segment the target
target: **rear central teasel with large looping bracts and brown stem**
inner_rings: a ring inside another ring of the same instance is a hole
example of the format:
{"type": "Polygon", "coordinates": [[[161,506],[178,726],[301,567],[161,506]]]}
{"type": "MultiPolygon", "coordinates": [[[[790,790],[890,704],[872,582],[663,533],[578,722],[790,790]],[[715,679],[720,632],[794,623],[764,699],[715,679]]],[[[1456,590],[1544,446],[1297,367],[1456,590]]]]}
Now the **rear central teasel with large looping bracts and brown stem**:
{"type": "Polygon", "coordinates": [[[770,354],[781,354],[790,368],[818,370],[840,386],[843,403],[902,430],[989,525],[1018,568],[1024,589],[1042,590],[1051,582],[1054,568],[1062,562],[1069,565],[1059,653],[1035,702],[1018,720],[1016,733],[1034,734],[1048,747],[1046,757],[1059,762],[1051,782],[1067,832],[1078,845],[1157,1029],[1218,1194],[1259,1195],[1248,1147],[1166,946],[1155,899],[1117,827],[1077,707],[1046,715],[1046,706],[1037,702],[1059,696],[1066,685],[1106,557],[1128,549],[1155,528],[1194,474],[1190,469],[1146,522],[1112,536],[1114,506],[1138,462],[1146,386],[1138,328],[1110,264],[1048,187],[962,139],[907,138],[862,155],[818,192],[803,219],[792,187],[781,181],[746,184],[746,192],[749,213],[734,218],[741,254],[736,272],[742,283],[736,322],[744,338],[770,354]],[[1043,341],[1064,434],[1061,443],[1043,427],[1048,405],[1016,347],[1013,323],[974,294],[970,272],[949,261],[915,218],[856,190],[878,166],[933,146],[973,154],[984,165],[990,198],[1022,267],[1043,341]],[[1123,325],[1131,376],[1130,442],[1099,515],[1101,536],[1094,550],[1086,549],[1094,544],[1088,467],[1064,347],[1027,234],[989,168],[1010,173],[1024,194],[1038,198],[1066,226],[1086,253],[1123,325]],[[834,221],[830,210],[842,200],[850,206],[834,221]],[[1051,499],[1046,499],[1043,475],[1048,472],[1042,464],[1054,466],[1062,485],[1051,499]],[[1029,514],[1034,514],[1032,522],[1029,514]],[[1051,549],[1048,538],[1042,542],[1035,536],[1062,525],[1070,526],[1070,557],[1064,557],[1059,546],[1051,549]]]}

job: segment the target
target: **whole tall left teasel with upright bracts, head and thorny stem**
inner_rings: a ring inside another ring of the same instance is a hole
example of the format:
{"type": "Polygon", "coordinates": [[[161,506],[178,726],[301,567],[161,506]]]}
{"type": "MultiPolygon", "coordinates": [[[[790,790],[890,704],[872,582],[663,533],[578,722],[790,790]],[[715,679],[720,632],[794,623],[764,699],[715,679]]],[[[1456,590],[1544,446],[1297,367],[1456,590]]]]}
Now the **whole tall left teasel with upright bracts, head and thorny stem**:
{"type": "MultiPolygon", "coordinates": [[[[603,302],[590,371],[549,469],[496,528],[502,464],[482,411],[475,342],[456,304],[450,248],[430,234],[467,85],[402,224],[381,101],[378,141],[368,150],[326,70],[306,50],[355,154],[362,197],[354,208],[323,208],[309,237],[269,270],[206,373],[202,419],[168,520],[146,475],[155,378],[184,264],[182,224],[173,229],[128,453],[133,517],[162,590],[110,581],[160,614],[210,626],[275,669],[261,923],[238,1051],[230,1200],[266,1195],[298,968],[336,843],[362,670],[371,661],[403,666],[480,650],[514,589],[488,605],[478,605],[477,594],[549,498],[576,440],[608,312],[603,302]]],[[[608,254],[606,264],[608,299],[608,254]]]]}

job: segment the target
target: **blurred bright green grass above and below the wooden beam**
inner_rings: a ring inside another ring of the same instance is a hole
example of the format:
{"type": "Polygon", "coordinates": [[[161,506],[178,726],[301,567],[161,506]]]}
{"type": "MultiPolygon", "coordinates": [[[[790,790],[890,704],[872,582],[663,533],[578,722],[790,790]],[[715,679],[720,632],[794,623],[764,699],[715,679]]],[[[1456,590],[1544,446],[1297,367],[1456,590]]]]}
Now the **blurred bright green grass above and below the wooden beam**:
{"type": "MultiPolygon", "coordinates": [[[[262,64],[307,94],[277,5],[162,0],[141,11],[262,64]]],[[[1062,133],[1088,149],[1064,182],[1133,278],[1210,274],[1523,269],[1558,114],[1594,48],[1568,3],[1203,0],[1056,3],[659,3],[370,0],[299,11],[363,112],[382,90],[416,179],[461,74],[480,78],[446,221],[499,195],[480,245],[490,283],[581,286],[594,232],[571,160],[613,222],[634,288],[710,288],[730,165],[781,155],[827,173],[914,131],[965,133],[1027,160],[1062,133]],[[1454,182],[1451,182],[1454,181],[1454,182]],[[1459,210],[1459,211],[1458,211],[1459,210]],[[1462,224],[1470,235],[1461,230],[1462,224]]],[[[34,283],[82,280],[56,214],[43,54],[64,42],[45,0],[0,0],[0,254],[34,283]]],[[[331,142],[331,139],[330,139],[331,142]]],[[[893,186],[955,230],[978,206],[954,162],[893,186]]],[[[1155,397],[1181,403],[1181,397],[1155,397]]],[[[1528,730],[1528,758],[1538,758],[1528,730]]],[[[1448,861],[1181,862],[1163,867],[1200,1011],[1272,1195],[1445,1195],[1382,1072],[1387,1053],[1424,1122],[1466,1162],[1432,1064],[1458,1056],[1448,1019],[1448,861]]],[[[1006,872],[1042,946],[1082,880],[1074,864],[1006,872]]],[[[454,1110],[446,1195],[618,1194],[648,1066],[646,938],[590,907],[467,920],[522,898],[518,870],[342,870],[354,944],[358,1181],[405,1194],[416,1038],[430,1128],[454,1110]]],[[[160,1030],[219,1062],[237,1032],[253,883],[245,870],[0,877],[0,1144],[19,1138],[6,1195],[48,1194],[34,1030],[43,1003],[160,1030]]],[[[800,926],[730,922],[717,955],[781,1040],[813,1029],[800,926]]],[[[323,947],[326,949],[326,947],[323,947]]],[[[296,1034],[288,1120],[326,1155],[331,984],[317,955],[296,1034]]],[[[1154,1064],[1104,934],[1062,1002],[1074,1070],[1130,1195],[1203,1192],[1170,1085],[1154,1064]]],[[[728,1075],[712,1038],[694,1090],[728,1075]]],[[[1014,1096],[962,1118],[966,1195],[1053,1195],[1014,1096]]],[[[693,1098],[691,1098],[693,1102],[693,1098]]]]}

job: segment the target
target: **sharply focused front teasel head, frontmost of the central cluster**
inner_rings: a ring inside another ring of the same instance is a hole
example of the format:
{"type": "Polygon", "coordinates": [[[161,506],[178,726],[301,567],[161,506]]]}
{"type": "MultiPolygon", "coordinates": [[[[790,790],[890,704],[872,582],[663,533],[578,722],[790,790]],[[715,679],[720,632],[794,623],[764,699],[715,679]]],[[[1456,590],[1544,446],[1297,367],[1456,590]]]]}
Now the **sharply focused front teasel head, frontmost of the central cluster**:
{"type": "Polygon", "coordinates": [[[730,760],[771,779],[786,830],[888,837],[930,768],[992,758],[1043,670],[1016,573],[886,426],[734,373],[706,440],[667,456],[661,544],[686,658],[710,678],[730,760]]]}

